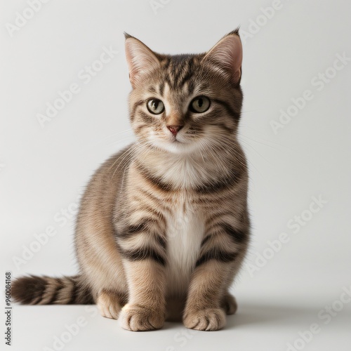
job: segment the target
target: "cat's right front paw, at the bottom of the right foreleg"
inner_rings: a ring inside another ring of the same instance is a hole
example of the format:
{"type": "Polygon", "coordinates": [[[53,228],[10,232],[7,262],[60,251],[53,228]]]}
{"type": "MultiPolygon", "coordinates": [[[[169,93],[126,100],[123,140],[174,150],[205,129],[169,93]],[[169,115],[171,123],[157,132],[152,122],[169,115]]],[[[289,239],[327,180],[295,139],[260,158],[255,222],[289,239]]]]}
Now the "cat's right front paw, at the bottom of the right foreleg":
{"type": "Polygon", "coordinates": [[[225,312],[221,308],[206,308],[185,312],[183,323],[187,328],[214,331],[225,326],[225,312]]]}

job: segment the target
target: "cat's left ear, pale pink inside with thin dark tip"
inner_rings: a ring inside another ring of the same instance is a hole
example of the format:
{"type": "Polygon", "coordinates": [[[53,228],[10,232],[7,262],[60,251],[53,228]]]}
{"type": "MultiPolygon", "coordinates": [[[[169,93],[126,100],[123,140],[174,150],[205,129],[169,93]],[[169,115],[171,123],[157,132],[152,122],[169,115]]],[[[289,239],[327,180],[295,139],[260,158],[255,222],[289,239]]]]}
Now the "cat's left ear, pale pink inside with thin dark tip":
{"type": "Polygon", "coordinates": [[[156,55],[142,41],[124,33],[126,37],[126,59],[129,68],[129,80],[133,88],[143,84],[145,77],[159,67],[156,55]]]}

